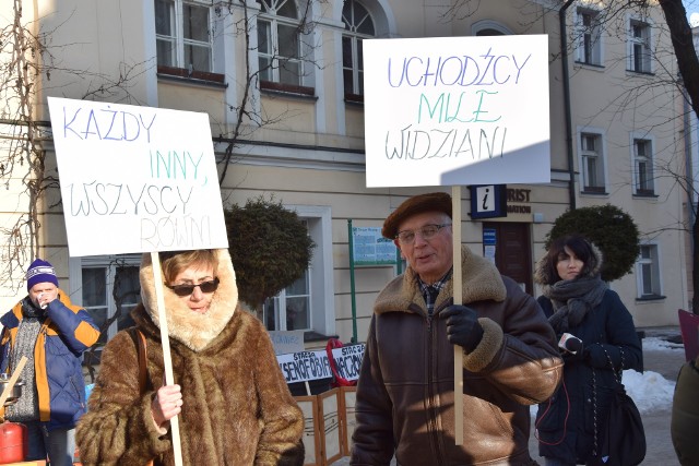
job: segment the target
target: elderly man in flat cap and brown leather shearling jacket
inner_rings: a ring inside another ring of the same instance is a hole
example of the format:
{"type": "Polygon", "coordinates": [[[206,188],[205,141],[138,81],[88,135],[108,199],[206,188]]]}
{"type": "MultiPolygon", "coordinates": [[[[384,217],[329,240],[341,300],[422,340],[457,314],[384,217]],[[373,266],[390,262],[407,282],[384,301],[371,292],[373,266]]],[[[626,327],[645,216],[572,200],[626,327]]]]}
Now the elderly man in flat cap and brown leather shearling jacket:
{"type": "Polygon", "coordinates": [[[383,223],[407,260],[379,294],[357,385],[352,465],[533,465],[530,408],[562,373],[536,301],[462,248],[453,303],[451,196],[413,196],[383,223]],[[463,444],[454,440],[454,345],[463,351],[463,444]]]}

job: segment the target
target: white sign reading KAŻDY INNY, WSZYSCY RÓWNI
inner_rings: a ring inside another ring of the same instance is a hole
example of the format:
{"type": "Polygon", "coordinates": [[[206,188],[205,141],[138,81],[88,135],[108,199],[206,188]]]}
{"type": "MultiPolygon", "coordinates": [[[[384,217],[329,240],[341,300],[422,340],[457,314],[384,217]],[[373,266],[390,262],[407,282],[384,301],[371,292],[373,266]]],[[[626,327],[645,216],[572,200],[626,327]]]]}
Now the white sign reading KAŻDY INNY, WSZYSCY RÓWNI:
{"type": "Polygon", "coordinates": [[[48,105],[70,255],[228,247],[208,115],[48,105]]]}

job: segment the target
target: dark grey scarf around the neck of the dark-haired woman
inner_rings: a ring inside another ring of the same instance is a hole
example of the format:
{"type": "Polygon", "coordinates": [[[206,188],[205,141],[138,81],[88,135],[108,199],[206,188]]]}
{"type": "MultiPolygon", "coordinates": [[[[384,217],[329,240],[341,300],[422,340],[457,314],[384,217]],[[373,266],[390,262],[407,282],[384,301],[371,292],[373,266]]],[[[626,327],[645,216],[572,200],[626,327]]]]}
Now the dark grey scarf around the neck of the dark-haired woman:
{"type": "Polygon", "coordinates": [[[556,312],[548,322],[557,334],[568,332],[570,327],[582,322],[588,311],[602,302],[607,284],[600,276],[578,277],[571,280],[556,282],[543,289],[544,296],[550,299],[556,312]]]}

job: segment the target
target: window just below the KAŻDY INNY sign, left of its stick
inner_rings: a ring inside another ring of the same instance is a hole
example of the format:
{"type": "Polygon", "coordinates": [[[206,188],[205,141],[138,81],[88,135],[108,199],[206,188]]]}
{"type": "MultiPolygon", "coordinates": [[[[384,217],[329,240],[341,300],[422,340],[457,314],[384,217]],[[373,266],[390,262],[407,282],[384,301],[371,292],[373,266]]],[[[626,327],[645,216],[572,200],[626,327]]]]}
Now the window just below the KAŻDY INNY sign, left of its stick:
{"type": "Polygon", "coordinates": [[[99,327],[98,348],[134,324],[130,312],[141,302],[140,264],[140,254],[71,259],[71,299],[99,327]]]}

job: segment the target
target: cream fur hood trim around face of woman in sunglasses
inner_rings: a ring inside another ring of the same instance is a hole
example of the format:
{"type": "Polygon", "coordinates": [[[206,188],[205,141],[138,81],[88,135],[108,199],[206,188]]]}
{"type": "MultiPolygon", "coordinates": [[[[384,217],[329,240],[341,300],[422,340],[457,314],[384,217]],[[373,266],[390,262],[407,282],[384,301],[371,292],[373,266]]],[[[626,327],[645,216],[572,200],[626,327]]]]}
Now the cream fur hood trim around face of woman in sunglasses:
{"type": "MultiPolygon", "coordinates": [[[[167,330],[175,338],[193,351],[201,351],[224,330],[238,304],[236,274],[227,249],[217,249],[218,267],[214,275],[221,280],[205,314],[192,312],[173,290],[163,286],[165,309],[167,310],[167,330]]],[[[146,313],[159,328],[157,297],[153,280],[151,254],[143,254],[141,271],[141,299],[146,313]]]]}

